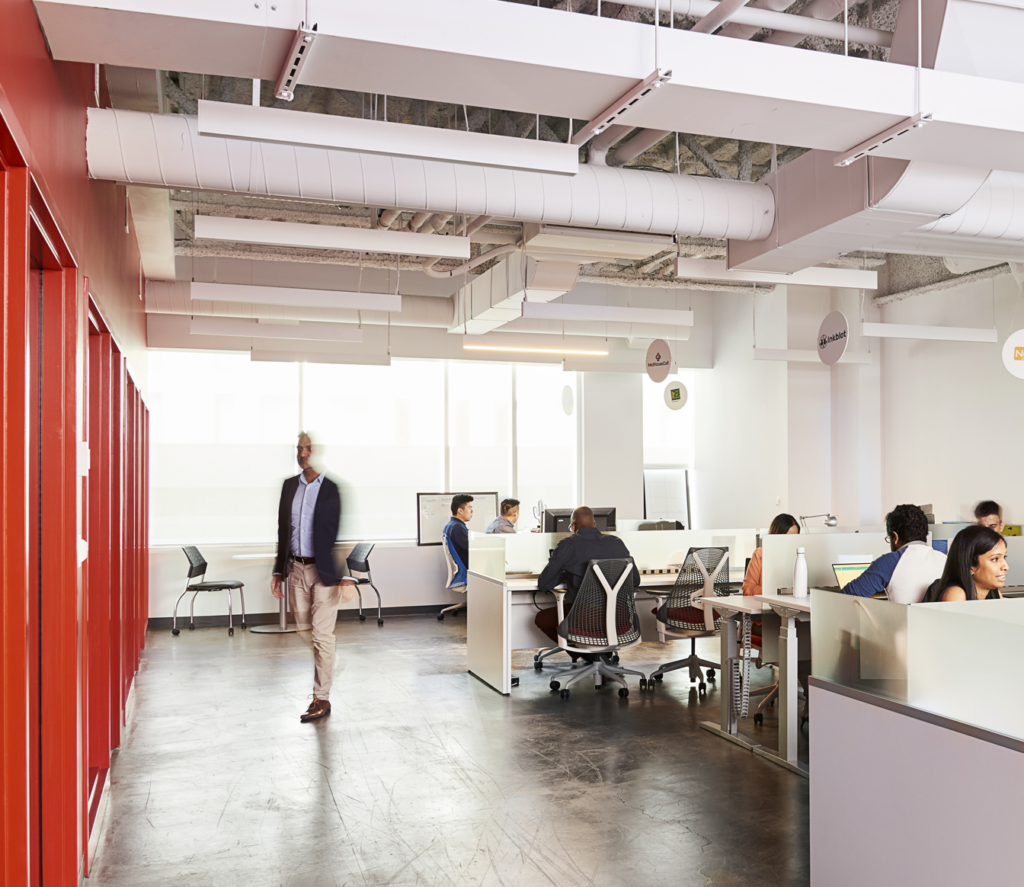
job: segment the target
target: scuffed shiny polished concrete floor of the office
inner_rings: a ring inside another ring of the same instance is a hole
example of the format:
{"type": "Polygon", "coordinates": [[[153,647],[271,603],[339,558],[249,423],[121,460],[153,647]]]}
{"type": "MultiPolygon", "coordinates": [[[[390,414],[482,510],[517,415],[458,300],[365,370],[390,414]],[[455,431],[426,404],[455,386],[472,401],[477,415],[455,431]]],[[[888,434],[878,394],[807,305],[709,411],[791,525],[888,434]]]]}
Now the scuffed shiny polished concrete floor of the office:
{"type": "Polygon", "coordinates": [[[503,698],[465,671],[464,618],[337,634],[334,713],[301,724],[301,637],[150,633],[91,887],[809,883],[807,780],[699,729],[714,687],[560,700],[517,653],[503,698]]]}

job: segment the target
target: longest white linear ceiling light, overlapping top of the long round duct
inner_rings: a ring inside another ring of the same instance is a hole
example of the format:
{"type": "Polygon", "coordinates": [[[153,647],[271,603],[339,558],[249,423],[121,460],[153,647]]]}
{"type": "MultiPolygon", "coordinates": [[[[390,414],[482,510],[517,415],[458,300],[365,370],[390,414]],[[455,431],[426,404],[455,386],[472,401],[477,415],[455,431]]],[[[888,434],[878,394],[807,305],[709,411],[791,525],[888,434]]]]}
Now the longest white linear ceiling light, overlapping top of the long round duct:
{"type": "Polygon", "coordinates": [[[580,171],[580,149],[559,141],[220,101],[200,101],[199,133],[557,175],[580,171]]]}

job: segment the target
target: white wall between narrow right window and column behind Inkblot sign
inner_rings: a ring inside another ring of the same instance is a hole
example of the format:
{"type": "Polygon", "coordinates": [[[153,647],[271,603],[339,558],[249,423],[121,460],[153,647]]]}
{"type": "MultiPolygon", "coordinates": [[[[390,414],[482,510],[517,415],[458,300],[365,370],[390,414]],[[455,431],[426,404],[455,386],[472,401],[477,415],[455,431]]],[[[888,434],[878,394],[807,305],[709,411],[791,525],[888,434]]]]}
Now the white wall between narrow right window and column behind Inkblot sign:
{"type": "Polygon", "coordinates": [[[713,370],[695,371],[693,525],[764,526],[788,508],[786,364],[754,360],[785,348],[786,293],[715,296],[713,370]]]}

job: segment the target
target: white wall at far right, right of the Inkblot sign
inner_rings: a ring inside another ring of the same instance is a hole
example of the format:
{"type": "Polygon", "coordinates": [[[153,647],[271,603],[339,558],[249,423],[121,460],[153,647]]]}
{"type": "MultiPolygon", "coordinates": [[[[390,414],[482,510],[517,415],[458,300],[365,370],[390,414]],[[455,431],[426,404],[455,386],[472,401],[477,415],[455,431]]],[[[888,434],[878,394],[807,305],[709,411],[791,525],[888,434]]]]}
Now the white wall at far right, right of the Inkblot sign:
{"type": "Polygon", "coordinates": [[[972,519],[994,499],[1024,520],[1024,380],[1002,366],[1002,342],[1024,327],[1009,274],[894,302],[893,324],[991,328],[997,344],[887,339],[882,346],[883,500],[932,503],[938,520],[972,519]],[[1016,314],[1016,320],[1014,320],[1016,314]]]}

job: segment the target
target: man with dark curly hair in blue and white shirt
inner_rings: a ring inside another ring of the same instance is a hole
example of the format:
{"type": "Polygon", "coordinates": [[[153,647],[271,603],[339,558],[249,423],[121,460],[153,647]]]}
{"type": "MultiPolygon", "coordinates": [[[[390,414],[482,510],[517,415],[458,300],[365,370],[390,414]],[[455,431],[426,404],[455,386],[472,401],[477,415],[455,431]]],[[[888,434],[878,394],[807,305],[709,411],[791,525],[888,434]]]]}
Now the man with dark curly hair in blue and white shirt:
{"type": "Polygon", "coordinates": [[[886,515],[886,533],[892,551],[847,583],[843,594],[885,592],[895,603],[921,603],[946,565],[946,556],[928,544],[928,518],[916,505],[897,505],[886,515]]]}

